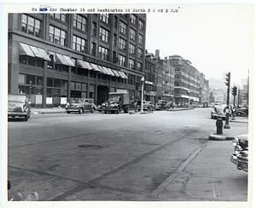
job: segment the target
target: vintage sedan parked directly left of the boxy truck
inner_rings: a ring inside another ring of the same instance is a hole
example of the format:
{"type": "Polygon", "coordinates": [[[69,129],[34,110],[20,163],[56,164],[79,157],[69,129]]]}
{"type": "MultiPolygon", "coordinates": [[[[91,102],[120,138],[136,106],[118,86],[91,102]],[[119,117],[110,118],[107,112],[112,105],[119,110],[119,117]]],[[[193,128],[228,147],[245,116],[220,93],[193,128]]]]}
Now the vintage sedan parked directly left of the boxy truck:
{"type": "Polygon", "coordinates": [[[96,111],[96,109],[97,109],[97,107],[94,104],[93,99],[91,99],[91,98],[74,99],[71,103],[67,103],[67,106],[66,106],[67,113],[71,113],[71,112],[94,113],[96,111]]]}

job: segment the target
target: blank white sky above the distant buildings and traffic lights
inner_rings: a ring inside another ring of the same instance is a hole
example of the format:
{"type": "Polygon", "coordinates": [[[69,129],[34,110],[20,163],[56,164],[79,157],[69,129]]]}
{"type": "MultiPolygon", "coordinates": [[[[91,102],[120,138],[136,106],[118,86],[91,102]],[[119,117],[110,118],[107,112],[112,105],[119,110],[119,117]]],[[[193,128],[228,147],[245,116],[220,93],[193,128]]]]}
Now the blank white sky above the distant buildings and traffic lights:
{"type": "Polygon", "coordinates": [[[160,49],[161,59],[180,55],[207,79],[230,72],[230,84],[241,84],[241,78],[253,71],[251,5],[176,4],[166,9],[178,9],[178,13],[147,14],[148,53],[160,49]]]}

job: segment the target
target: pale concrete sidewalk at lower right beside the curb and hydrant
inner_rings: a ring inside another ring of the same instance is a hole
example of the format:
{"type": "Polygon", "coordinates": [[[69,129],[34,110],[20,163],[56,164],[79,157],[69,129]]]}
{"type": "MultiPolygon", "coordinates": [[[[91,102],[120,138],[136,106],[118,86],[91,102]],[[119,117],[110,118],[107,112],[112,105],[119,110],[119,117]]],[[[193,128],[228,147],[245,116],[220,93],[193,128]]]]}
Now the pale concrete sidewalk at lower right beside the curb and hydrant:
{"type": "MultiPolygon", "coordinates": [[[[248,133],[248,118],[236,118],[223,136],[232,139],[248,133]]],[[[230,140],[209,137],[191,154],[152,196],[166,201],[247,201],[247,172],[230,162],[234,147],[230,140]]]]}

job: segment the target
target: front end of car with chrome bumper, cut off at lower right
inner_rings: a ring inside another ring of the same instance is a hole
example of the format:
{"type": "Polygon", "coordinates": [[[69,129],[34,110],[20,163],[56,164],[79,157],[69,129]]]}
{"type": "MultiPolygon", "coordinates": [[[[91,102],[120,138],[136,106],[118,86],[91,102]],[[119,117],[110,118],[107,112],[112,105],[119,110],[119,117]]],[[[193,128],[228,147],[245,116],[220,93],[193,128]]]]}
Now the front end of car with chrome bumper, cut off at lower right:
{"type": "Polygon", "coordinates": [[[238,170],[248,171],[248,135],[235,136],[232,143],[235,153],[231,154],[231,162],[238,170]]]}

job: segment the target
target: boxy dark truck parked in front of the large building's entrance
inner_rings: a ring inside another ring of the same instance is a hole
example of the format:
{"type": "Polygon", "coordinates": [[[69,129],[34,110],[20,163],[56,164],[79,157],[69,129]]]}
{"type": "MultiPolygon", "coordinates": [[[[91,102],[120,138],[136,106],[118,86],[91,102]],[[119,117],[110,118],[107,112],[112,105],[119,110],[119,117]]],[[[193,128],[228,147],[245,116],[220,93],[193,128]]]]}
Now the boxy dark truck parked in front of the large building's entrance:
{"type": "Polygon", "coordinates": [[[104,113],[119,113],[124,111],[128,113],[130,110],[130,101],[128,92],[110,92],[108,93],[108,101],[102,103],[100,109],[104,113]]]}

